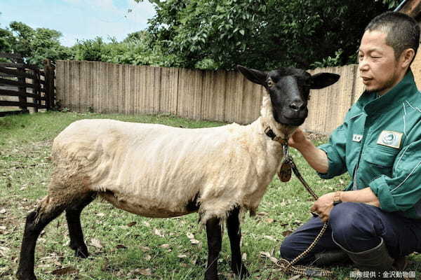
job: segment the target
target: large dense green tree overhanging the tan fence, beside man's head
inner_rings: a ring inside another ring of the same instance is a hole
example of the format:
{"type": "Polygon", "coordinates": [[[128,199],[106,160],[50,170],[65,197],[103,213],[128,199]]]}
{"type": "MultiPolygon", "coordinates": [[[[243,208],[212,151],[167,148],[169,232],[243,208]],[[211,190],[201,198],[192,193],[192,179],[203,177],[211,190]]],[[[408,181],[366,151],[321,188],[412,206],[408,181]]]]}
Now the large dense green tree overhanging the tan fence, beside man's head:
{"type": "Polygon", "coordinates": [[[397,1],[166,0],[149,21],[151,47],[188,68],[260,69],[355,62],[362,31],[397,1]]]}

